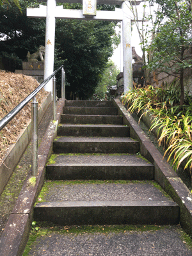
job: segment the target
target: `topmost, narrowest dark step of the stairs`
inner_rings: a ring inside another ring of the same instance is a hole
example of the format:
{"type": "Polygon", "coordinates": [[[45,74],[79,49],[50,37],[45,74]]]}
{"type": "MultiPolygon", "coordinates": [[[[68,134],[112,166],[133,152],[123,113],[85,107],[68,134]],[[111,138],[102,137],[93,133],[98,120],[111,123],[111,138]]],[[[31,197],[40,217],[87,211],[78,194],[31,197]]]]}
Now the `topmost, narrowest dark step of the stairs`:
{"type": "Polygon", "coordinates": [[[113,101],[98,101],[98,100],[66,100],[65,106],[67,107],[102,107],[113,108],[113,101]]]}

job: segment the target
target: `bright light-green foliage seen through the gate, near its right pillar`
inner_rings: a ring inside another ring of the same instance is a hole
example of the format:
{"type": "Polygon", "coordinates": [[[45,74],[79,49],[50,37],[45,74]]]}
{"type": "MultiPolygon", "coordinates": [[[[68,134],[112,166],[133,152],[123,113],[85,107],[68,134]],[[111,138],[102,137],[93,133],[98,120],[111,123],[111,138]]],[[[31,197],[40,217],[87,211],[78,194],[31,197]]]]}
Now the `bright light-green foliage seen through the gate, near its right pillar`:
{"type": "Polygon", "coordinates": [[[97,99],[104,99],[105,94],[109,92],[109,88],[116,85],[116,76],[119,72],[120,70],[115,66],[113,61],[109,61],[95,88],[95,97],[97,97],[97,99]]]}

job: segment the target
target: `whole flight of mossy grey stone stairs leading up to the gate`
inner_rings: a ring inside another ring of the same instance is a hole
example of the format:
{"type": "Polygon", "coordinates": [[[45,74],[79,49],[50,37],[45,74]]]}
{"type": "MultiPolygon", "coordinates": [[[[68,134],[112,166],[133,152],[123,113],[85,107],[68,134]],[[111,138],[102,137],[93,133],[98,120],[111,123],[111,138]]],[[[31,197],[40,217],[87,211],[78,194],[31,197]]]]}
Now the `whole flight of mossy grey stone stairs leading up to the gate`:
{"type": "Polygon", "coordinates": [[[179,206],[156,184],[154,166],[129,136],[113,102],[67,100],[34,220],[178,224],[179,206]]]}

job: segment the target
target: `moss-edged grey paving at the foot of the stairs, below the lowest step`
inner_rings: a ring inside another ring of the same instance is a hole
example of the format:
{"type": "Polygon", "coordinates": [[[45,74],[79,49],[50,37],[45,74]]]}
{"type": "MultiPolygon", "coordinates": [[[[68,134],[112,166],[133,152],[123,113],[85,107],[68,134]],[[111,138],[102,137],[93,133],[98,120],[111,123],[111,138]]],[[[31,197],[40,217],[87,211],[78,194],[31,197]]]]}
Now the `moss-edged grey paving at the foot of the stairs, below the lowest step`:
{"type": "Polygon", "coordinates": [[[191,255],[192,242],[179,226],[86,225],[32,231],[26,255],[191,255]],[[35,243],[34,243],[35,242],[35,243]],[[85,253],[86,252],[86,253],[85,253]]]}

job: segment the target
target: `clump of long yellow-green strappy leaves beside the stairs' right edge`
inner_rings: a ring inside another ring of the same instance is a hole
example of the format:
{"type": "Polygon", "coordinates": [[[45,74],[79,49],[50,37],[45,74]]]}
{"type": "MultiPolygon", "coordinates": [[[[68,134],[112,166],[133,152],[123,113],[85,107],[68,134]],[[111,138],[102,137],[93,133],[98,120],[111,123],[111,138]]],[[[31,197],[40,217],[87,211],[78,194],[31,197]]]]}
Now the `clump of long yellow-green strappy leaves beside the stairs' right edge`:
{"type": "Polygon", "coordinates": [[[180,106],[179,95],[173,83],[165,88],[147,86],[127,92],[122,102],[131,113],[152,113],[150,131],[157,129],[159,145],[166,147],[164,156],[168,155],[175,170],[184,163],[184,169],[188,168],[192,176],[192,99],[186,95],[184,105],[180,106]]]}

